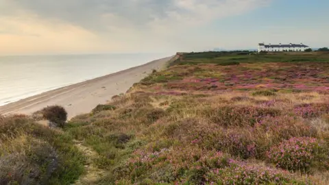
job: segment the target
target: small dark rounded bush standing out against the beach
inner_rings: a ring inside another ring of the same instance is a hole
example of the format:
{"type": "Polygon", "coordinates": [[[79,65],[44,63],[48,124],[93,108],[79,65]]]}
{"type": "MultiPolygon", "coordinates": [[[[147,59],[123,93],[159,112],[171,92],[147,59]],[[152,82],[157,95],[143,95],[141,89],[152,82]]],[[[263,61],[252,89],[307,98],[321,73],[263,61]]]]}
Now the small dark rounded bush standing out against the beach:
{"type": "Polygon", "coordinates": [[[67,119],[67,112],[62,106],[48,106],[41,110],[43,117],[51,121],[57,127],[64,127],[67,119]]]}

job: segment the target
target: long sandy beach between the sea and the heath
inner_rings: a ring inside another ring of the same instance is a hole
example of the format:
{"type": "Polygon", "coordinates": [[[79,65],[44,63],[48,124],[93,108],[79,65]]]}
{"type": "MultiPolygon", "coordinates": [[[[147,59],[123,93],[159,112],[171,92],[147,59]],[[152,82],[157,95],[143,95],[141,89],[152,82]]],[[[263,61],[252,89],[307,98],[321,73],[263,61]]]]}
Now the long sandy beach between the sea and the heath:
{"type": "Polygon", "coordinates": [[[153,69],[159,70],[173,57],[162,58],[131,69],[97,77],[85,82],[51,90],[0,107],[0,114],[32,114],[51,105],[63,106],[71,119],[88,113],[98,104],[107,103],[114,95],[125,93],[132,84],[141,81],[153,69]]]}

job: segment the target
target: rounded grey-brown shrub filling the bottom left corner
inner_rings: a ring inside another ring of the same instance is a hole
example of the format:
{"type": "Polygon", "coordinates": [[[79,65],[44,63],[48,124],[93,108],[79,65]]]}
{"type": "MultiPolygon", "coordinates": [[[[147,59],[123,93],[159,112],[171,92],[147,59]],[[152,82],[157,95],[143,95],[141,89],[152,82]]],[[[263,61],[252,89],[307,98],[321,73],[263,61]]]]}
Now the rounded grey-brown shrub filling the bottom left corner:
{"type": "Polygon", "coordinates": [[[58,169],[58,154],[41,140],[21,136],[0,149],[0,184],[49,184],[58,169]]]}

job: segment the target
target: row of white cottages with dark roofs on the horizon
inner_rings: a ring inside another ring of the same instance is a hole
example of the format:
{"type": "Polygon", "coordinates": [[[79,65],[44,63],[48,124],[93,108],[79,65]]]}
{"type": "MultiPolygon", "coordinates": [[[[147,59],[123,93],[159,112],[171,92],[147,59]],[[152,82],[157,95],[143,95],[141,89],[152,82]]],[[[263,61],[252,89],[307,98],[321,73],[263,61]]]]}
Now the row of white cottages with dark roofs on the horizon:
{"type": "Polygon", "coordinates": [[[300,45],[295,44],[289,44],[289,45],[265,45],[264,43],[258,44],[258,52],[261,51],[270,51],[270,52],[276,52],[276,51],[305,51],[305,49],[308,49],[310,47],[303,45],[303,43],[300,43],[300,45]]]}

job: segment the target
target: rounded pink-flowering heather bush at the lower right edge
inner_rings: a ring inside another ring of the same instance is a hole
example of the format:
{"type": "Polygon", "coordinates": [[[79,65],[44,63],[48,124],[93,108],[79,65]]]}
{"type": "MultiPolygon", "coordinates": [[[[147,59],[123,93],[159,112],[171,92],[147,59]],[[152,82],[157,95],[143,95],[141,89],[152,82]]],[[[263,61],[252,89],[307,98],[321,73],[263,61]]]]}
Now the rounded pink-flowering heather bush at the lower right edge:
{"type": "Polygon", "coordinates": [[[267,157],[277,167],[289,171],[309,173],[310,168],[319,162],[319,167],[328,165],[328,149],[317,138],[301,137],[284,140],[280,145],[271,147],[267,157]]]}

